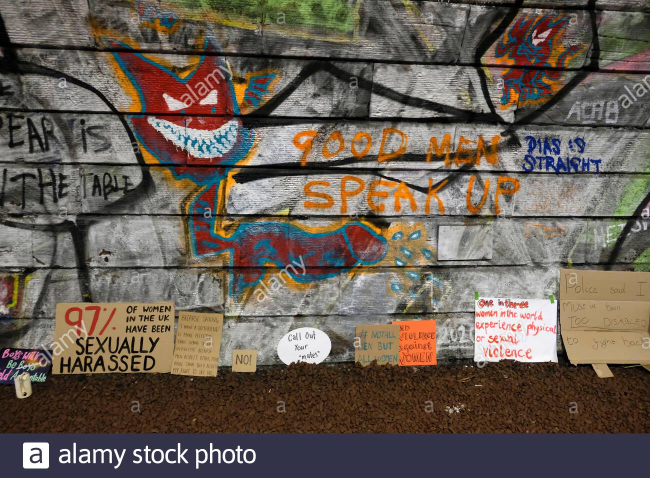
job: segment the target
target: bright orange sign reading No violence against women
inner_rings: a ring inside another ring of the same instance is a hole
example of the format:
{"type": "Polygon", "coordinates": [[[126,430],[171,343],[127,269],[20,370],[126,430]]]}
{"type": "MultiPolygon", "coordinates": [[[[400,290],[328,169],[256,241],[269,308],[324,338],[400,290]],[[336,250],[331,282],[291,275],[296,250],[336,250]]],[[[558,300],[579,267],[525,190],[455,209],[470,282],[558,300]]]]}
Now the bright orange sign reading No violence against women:
{"type": "Polygon", "coordinates": [[[399,364],[435,365],[435,321],[393,321],[400,326],[399,364]]]}

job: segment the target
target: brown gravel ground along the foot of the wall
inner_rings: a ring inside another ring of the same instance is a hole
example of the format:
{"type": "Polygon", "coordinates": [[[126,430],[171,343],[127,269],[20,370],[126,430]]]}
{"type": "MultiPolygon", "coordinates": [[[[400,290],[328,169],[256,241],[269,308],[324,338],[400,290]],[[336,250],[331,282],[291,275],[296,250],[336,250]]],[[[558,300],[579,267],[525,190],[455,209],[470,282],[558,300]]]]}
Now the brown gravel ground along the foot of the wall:
{"type": "Polygon", "coordinates": [[[612,371],[500,362],[51,376],[28,399],[0,388],[0,431],[650,432],[650,374],[612,371]]]}

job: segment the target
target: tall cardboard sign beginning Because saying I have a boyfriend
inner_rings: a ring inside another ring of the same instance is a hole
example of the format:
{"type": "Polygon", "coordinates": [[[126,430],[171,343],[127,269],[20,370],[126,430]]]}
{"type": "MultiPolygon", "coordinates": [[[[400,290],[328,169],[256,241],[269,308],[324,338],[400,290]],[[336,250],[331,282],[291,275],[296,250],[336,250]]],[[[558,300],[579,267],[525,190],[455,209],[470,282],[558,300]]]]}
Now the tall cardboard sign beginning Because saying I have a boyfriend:
{"type": "Polygon", "coordinates": [[[224,314],[179,312],[172,373],[216,377],[224,314]]]}

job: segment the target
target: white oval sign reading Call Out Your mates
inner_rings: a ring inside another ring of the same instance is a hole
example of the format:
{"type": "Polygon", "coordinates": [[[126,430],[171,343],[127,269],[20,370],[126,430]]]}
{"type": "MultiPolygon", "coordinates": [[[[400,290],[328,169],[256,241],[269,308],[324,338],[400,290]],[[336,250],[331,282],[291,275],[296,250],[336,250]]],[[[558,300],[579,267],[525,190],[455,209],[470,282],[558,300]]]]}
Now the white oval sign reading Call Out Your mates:
{"type": "Polygon", "coordinates": [[[313,327],[291,330],[278,343],[278,357],[287,365],[292,362],[320,364],[330,351],[331,340],[328,335],[313,327]]]}

